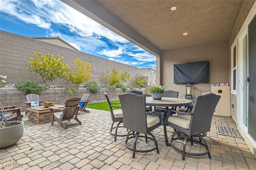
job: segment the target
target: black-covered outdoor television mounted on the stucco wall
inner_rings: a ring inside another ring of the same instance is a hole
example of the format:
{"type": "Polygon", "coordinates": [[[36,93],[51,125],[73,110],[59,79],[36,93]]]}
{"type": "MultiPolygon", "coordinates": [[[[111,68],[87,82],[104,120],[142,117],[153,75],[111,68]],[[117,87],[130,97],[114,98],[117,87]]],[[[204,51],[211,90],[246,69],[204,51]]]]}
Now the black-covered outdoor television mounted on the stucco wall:
{"type": "Polygon", "coordinates": [[[174,83],[209,83],[209,61],[174,64],[174,83]]]}

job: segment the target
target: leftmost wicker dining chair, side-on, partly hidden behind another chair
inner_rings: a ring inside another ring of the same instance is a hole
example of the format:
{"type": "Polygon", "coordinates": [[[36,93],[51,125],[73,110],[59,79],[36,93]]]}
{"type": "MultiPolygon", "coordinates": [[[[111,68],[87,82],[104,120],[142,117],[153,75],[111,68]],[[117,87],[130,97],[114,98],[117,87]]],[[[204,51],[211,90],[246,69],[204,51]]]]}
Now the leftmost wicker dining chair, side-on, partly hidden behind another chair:
{"type": "Polygon", "coordinates": [[[123,126],[120,126],[121,123],[123,123],[123,112],[122,109],[117,109],[117,110],[113,110],[114,107],[116,108],[121,108],[121,106],[114,106],[115,104],[120,104],[120,103],[111,103],[109,98],[108,98],[108,94],[106,92],[104,92],[104,95],[107,99],[108,102],[108,106],[110,109],[110,115],[111,115],[111,119],[113,121],[111,128],[109,130],[109,133],[114,135],[114,141],[116,141],[116,137],[117,136],[126,136],[126,134],[118,134],[118,128],[122,128],[123,126]],[[116,125],[116,127],[114,127],[114,123],[118,122],[118,124],[116,125]],[[112,130],[115,130],[115,132],[113,133],[112,130]]]}

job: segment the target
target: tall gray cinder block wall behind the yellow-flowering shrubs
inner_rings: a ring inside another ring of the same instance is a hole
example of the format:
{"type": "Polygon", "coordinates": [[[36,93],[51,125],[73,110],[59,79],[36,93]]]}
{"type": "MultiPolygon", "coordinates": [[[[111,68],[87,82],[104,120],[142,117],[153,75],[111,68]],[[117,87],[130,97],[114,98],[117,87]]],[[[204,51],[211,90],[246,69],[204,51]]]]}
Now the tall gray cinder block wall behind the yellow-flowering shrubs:
{"type": "MultiPolygon", "coordinates": [[[[140,69],[138,67],[133,67],[3,30],[0,30],[0,34],[0,75],[6,75],[7,81],[10,83],[30,79],[39,82],[40,77],[27,68],[30,65],[28,63],[28,61],[30,61],[29,57],[35,57],[35,51],[44,55],[50,53],[54,54],[54,56],[64,56],[64,62],[68,63],[71,68],[74,68],[74,60],[76,58],[91,63],[91,81],[97,78],[102,85],[106,84],[106,81],[103,79],[106,70],[108,69],[111,71],[114,67],[120,71],[128,71],[130,73],[131,82],[134,81],[136,73],[141,73],[144,76],[150,77],[150,71],[147,69],[140,69]]],[[[66,81],[64,79],[57,79],[51,84],[58,85],[65,83],[66,81]]]]}

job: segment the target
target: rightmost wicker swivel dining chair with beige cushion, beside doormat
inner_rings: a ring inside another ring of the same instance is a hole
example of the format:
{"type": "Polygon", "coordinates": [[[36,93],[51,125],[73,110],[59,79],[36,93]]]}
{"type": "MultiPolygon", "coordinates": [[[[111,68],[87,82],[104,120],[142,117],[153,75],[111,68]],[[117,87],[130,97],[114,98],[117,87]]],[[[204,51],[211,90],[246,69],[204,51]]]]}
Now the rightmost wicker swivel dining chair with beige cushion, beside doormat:
{"type": "Polygon", "coordinates": [[[210,131],[212,116],[219,100],[220,96],[213,93],[198,96],[195,99],[191,113],[182,113],[181,115],[170,116],[167,119],[166,125],[176,129],[172,134],[170,146],[182,152],[182,160],[185,160],[185,154],[194,156],[208,154],[208,157],[211,159],[206,140],[204,140],[201,134],[210,131]],[[180,134],[184,134],[185,136],[181,136],[180,134]],[[199,140],[196,140],[194,137],[198,137],[199,140]],[[173,143],[175,140],[184,140],[183,149],[180,149],[180,146],[175,146],[173,143]],[[193,142],[201,144],[206,148],[206,151],[200,153],[186,151],[187,140],[191,141],[191,145],[193,145],[193,142]]]}

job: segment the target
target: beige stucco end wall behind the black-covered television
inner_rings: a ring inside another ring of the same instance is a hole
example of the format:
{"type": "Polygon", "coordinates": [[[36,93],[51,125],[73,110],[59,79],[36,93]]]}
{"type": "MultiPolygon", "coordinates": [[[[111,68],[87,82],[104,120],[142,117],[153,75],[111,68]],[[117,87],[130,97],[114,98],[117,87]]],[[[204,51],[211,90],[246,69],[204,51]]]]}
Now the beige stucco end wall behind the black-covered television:
{"type": "Polygon", "coordinates": [[[173,65],[196,61],[209,61],[209,83],[192,85],[193,98],[210,91],[210,84],[229,82],[228,42],[218,42],[184,49],[164,51],[162,53],[162,85],[168,90],[179,91],[178,97],[186,94],[185,85],[174,84],[173,65]]]}

